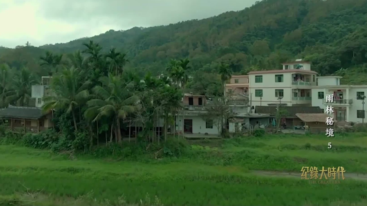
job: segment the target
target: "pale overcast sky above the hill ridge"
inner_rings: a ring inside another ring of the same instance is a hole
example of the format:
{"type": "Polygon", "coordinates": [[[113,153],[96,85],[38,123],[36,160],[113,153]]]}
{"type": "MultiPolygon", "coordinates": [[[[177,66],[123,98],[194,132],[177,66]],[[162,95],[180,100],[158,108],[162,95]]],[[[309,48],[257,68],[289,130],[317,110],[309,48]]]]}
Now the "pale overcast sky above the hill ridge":
{"type": "Polygon", "coordinates": [[[255,0],[0,0],[0,45],[65,43],[106,31],[239,11],[255,0]]]}

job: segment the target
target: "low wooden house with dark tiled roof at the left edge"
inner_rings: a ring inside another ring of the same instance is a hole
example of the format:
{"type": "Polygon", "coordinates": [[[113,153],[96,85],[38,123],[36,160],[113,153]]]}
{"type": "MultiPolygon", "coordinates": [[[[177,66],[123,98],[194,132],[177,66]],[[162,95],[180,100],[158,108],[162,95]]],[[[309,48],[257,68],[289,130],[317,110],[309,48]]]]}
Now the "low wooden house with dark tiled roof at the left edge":
{"type": "Polygon", "coordinates": [[[41,108],[9,106],[0,109],[0,124],[14,132],[34,132],[52,128],[52,114],[43,114],[41,108]]]}

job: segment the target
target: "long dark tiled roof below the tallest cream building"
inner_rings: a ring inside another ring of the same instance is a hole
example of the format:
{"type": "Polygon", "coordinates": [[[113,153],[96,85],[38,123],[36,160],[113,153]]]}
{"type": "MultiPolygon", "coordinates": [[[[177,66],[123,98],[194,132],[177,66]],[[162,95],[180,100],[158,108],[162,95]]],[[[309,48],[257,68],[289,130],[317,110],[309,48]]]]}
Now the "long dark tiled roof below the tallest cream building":
{"type": "MultiPolygon", "coordinates": [[[[287,111],[287,117],[296,117],[297,113],[323,113],[320,107],[280,107],[281,110],[287,111]]],[[[277,113],[276,106],[256,106],[255,113],[260,114],[270,114],[271,116],[275,116],[277,113]]]]}

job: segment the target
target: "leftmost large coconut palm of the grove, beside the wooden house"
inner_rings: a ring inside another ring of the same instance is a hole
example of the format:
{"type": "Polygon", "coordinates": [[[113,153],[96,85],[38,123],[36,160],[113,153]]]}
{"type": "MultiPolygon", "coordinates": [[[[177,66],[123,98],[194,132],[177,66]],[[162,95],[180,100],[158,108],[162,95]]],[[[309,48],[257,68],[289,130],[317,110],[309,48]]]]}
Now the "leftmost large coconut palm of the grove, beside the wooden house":
{"type": "Polygon", "coordinates": [[[80,69],[75,67],[64,69],[61,74],[52,78],[51,91],[53,95],[43,98],[45,102],[43,111],[66,109],[66,113],[72,114],[74,128],[77,131],[75,109],[88,98],[87,88],[89,84],[89,81],[84,83],[80,81],[80,69]]]}

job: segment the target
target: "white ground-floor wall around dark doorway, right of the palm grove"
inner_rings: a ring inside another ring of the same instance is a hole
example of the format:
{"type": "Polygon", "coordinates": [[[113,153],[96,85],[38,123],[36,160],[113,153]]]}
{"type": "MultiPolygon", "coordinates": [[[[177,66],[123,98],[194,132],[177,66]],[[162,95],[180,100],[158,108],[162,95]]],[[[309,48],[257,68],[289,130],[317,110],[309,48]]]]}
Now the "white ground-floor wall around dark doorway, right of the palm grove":
{"type": "MultiPolygon", "coordinates": [[[[192,115],[185,115],[185,119],[192,119],[192,133],[208,133],[212,135],[218,135],[218,127],[215,124],[213,124],[213,128],[206,128],[206,121],[201,118],[200,116],[192,116],[192,115]]],[[[176,116],[176,130],[182,131],[183,126],[183,117],[180,115],[179,117],[176,116]]],[[[220,131],[220,130],[219,130],[220,131]]]]}

